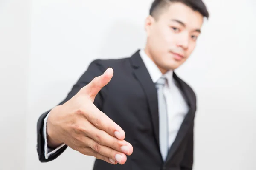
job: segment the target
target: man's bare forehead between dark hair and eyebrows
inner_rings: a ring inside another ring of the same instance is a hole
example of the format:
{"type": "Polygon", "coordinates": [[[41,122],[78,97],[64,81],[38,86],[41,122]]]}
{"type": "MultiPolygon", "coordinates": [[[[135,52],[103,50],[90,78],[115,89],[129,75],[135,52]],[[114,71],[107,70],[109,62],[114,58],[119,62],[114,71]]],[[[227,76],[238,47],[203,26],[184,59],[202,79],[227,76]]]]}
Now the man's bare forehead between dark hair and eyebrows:
{"type": "Polygon", "coordinates": [[[169,8],[162,15],[164,20],[180,20],[190,28],[200,28],[204,17],[183,3],[171,3],[169,8]]]}

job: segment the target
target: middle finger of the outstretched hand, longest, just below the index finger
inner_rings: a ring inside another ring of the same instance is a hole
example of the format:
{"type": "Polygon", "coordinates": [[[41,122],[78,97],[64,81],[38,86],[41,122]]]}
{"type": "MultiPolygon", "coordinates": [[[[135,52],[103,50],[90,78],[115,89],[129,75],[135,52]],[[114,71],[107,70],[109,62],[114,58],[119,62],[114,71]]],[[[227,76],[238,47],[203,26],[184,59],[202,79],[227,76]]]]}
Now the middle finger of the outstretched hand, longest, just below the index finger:
{"type": "Polygon", "coordinates": [[[116,139],[109,135],[104,130],[100,130],[90,122],[87,123],[86,128],[84,128],[85,136],[89,136],[97,143],[112,148],[113,150],[125,153],[126,155],[131,155],[133,152],[133,147],[129,142],[125,140],[116,139]]]}

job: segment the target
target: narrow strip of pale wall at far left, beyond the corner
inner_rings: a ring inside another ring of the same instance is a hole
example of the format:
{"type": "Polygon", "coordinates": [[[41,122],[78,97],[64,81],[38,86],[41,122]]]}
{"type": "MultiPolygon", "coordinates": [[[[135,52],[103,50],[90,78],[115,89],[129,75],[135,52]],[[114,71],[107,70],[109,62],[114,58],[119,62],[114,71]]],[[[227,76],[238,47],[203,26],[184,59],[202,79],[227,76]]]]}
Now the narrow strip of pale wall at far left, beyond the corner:
{"type": "Polygon", "coordinates": [[[0,0],[0,170],[26,164],[29,12],[29,0],[0,0]]]}

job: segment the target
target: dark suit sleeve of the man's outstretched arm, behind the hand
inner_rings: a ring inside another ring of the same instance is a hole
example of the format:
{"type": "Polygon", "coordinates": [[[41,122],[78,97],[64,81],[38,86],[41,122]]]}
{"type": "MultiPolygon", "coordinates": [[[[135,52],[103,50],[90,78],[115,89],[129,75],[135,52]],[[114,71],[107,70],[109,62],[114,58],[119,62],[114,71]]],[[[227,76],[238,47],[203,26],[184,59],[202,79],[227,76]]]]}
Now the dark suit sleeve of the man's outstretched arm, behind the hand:
{"type": "MultiPolygon", "coordinates": [[[[67,102],[69,99],[71,99],[81,88],[86,86],[89,82],[93,80],[93,78],[100,76],[104,73],[105,68],[103,68],[102,65],[99,64],[99,60],[94,60],[93,62],[90,63],[89,67],[87,70],[84,72],[84,74],[81,75],[79,80],[76,82],[75,85],[73,85],[73,88],[71,91],[67,94],[67,97],[58,105],[62,105],[65,102],[67,102]]],[[[95,97],[94,100],[94,105],[96,105],[97,108],[102,110],[102,91],[100,91],[97,96],[95,97]]],[[[38,153],[38,158],[39,161],[41,162],[49,162],[54,159],[56,159],[58,156],[61,155],[61,153],[64,152],[64,150],[67,149],[67,145],[64,145],[60,149],[58,149],[55,153],[51,154],[48,159],[45,158],[45,142],[44,142],[44,133],[43,133],[43,128],[44,128],[44,119],[47,117],[48,113],[50,112],[47,111],[43,113],[37,122],[37,153],[38,153]]],[[[55,148],[52,148],[55,149],[55,148]]]]}

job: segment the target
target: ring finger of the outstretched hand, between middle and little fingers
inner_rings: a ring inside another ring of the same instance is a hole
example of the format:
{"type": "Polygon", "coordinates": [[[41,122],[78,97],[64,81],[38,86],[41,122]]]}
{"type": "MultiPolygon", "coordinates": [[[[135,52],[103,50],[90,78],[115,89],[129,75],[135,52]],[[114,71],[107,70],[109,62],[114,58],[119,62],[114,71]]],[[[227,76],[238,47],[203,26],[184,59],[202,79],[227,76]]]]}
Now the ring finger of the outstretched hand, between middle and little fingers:
{"type": "Polygon", "coordinates": [[[88,141],[89,147],[92,148],[96,153],[99,153],[107,158],[111,158],[114,161],[117,161],[119,164],[125,164],[127,161],[127,157],[124,153],[120,153],[111,149],[110,147],[103,146],[91,138],[87,137],[86,140],[88,141]]]}

